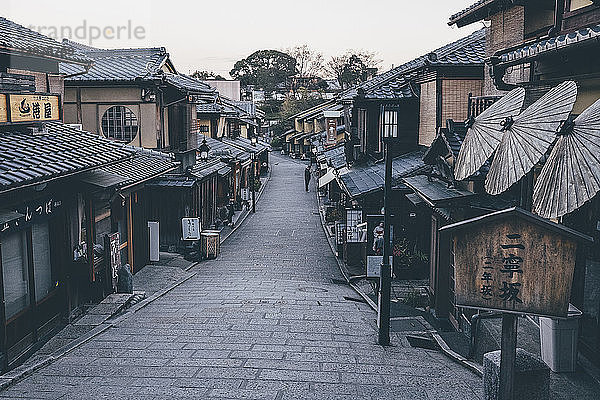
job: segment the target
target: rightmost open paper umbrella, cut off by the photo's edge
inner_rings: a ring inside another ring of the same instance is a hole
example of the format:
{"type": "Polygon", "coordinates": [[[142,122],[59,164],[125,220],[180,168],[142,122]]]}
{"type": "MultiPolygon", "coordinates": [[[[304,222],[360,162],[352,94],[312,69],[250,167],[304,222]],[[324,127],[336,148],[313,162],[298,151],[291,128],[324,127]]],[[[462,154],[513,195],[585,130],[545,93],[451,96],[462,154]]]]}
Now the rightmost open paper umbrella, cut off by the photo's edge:
{"type": "Polygon", "coordinates": [[[600,191],[600,100],[567,121],[533,191],[533,207],[544,218],[568,214],[600,191]]]}

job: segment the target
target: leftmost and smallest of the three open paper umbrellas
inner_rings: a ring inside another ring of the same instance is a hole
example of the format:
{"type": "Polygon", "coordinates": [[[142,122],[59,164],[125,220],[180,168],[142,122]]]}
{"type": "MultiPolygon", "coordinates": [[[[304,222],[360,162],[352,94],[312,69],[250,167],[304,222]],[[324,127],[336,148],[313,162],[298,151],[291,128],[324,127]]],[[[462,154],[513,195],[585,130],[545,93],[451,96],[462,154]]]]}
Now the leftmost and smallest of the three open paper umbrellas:
{"type": "Polygon", "coordinates": [[[507,117],[516,117],[521,112],[524,100],[525,89],[513,89],[477,117],[466,122],[469,129],[454,167],[454,177],[457,180],[467,179],[479,171],[491,157],[504,135],[501,122],[507,117]]]}

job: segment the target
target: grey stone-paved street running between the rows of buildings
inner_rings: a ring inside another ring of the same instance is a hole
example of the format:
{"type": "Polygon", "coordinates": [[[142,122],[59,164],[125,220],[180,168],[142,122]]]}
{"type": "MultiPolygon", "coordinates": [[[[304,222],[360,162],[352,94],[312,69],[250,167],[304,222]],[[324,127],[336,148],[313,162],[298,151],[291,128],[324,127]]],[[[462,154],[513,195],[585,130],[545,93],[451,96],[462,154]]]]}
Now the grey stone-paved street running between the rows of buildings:
{"type": "Polygon", "coordinates": [[[375,313],[341,279],[304,165],[277,164],[257,213],[217,260],[0,398],[474,399],[442,354],[376,344],[375,313]]]}

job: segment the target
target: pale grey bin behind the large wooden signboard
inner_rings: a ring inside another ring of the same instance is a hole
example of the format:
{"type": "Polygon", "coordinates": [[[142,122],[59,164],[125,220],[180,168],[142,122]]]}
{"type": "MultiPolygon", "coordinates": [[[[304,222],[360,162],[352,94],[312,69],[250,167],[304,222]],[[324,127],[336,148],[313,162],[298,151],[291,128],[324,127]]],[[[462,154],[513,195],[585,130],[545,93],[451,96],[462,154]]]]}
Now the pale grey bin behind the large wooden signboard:
{"type": "Polygon", "coordinates": [[[574,372],[582,312],[569,304],[566,318],[540,317],[542,360],[553,372],[574,372]]]}

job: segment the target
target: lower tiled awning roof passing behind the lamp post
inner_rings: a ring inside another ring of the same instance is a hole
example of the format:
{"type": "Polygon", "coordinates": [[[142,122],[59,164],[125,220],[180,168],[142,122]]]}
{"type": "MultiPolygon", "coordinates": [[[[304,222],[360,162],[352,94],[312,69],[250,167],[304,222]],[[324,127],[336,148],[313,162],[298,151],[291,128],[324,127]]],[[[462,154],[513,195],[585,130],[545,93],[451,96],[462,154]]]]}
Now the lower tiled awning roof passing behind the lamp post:
{"type": "MultiPolygon", "coordinates": [[[[396,184],[401,178],[416,174],[426,168],[423,163],[424,150],[416,150],[394,158],[392,161],[392,181],[396,184]]],[[[385,165],[378,163],[370,166],[352,167],[339,176],[342,185],[350,197],[356,198],[383,189],[385,165]]]]}

